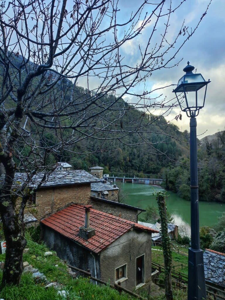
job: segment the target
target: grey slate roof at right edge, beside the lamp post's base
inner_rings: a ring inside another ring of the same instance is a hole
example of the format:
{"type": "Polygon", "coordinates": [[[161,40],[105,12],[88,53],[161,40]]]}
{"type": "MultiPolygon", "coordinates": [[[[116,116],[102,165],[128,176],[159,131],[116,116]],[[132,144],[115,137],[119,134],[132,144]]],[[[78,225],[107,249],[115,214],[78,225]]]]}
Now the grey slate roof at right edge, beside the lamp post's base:
{"type": "Polygon", "coordinates": [[[225,254],[205,249],[203,259],[205,279],[225,286],[225,254]]]}

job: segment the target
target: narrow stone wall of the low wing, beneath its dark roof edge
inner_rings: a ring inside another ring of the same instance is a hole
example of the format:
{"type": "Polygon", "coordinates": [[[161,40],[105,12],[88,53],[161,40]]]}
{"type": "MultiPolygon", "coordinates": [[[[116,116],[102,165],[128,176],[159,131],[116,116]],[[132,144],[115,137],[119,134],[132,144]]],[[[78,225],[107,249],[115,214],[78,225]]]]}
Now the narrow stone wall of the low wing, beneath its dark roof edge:
{"type": "Polygon", "coordinates": [[[99,211],[106,212],[107,214],[112,214],[113,216],[120,217],[132,222],[137,222],[137,210],[125,208],[117,204],[113,205],[111,203],[106,203],[101,200],[93,200],[91,198],[92,208],[99,211]]]}

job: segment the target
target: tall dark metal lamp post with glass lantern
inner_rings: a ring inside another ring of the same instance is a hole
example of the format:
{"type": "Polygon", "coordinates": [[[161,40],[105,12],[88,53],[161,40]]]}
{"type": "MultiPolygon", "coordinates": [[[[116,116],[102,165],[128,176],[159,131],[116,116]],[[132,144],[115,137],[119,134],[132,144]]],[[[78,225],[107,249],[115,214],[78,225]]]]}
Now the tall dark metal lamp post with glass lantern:
{"type": "Polygon", "coordinates": [[[186,74],[179,80],[173,90],[180,108],[190,118],[190,193],[191,193],[191,247],[188,249],[188,300],[206,299],[203,252],[199,241],[199,209],[198,209],[198,170],[197,170],[197,136],[196,116],[204,107],[207,85],[201,74],[193,74],[194,67],[189,65],[183,69],[186,74]],[[202,99],[198,99],[198,91],[205,87],[202,99]],[[191,103],[190,103],[191,101],[191,103]]]}

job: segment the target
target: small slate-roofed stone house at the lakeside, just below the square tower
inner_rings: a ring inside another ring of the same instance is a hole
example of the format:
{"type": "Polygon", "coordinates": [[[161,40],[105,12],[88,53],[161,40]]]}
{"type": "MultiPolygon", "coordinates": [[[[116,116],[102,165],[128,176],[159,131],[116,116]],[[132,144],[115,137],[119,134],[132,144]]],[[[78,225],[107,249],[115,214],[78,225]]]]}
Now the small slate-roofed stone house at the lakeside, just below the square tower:
{"type": "Polygon", "coordinates": [[[110,184],[106,180],[103,182],[91,183],[91,196],[108,199],[118,202],[119,187],[110,184]]]}

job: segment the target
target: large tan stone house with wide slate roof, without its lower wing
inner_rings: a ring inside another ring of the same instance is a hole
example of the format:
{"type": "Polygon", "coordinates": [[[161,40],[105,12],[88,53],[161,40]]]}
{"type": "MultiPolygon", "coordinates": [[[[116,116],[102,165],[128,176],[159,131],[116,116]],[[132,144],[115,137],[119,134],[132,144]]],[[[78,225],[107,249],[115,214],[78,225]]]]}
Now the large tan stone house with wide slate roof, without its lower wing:
{"type": "MultiPolygon", "coordinates": [[[[26,173],[16,173],[14,182],[17,188],[27,178],[26,173]],[[21,184],[18,184],[21,183],[21,184]]],[[[35,187],[43,178],[43,173],[37,173],[29,187],[35,187]]],[[[64,207],[68,203],[76,202],[89,204],[91,196],[91,183],[99,179],[84,170],[54,171],[42,183],[36,193],[32,194],[25,213],[31,211],[35,218],[41,218],[64,207]],[[35,213],[33,212],[35,209],[35,213]]]]}

